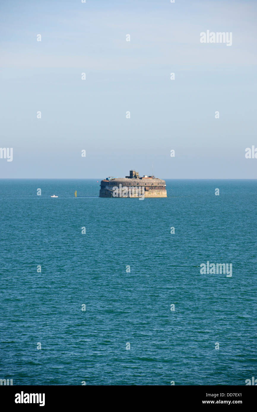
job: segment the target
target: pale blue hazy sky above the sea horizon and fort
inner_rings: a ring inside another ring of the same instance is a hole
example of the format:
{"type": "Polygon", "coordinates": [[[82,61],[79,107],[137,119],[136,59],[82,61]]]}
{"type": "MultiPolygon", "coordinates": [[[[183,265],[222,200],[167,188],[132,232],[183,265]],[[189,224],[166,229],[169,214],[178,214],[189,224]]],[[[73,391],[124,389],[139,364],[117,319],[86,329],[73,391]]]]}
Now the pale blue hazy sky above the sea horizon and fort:
{"type": "Polygon", "coordinates": [[[257,147],[257,1],[2,0],[0,21],[0,147],[13,148],[0,178],[152,164],[159,178],[257,178],[245,158],[257,147]],[[232,32],[232,45],[200,43],[207,30],[232,32]]]}

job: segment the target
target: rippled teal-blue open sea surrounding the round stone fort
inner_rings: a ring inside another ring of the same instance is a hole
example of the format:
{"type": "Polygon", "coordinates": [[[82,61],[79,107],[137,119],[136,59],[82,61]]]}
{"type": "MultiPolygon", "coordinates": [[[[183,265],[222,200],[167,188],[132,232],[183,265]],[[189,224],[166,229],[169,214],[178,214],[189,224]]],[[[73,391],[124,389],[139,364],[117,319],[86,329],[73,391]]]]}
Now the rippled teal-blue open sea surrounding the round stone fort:
{"type": "Polygon", "coordinates": [[[0,378],[257,378],[257,180],[166,180],[141,201],[99,198],[100,180],[0,180],[0,378]],[[200,274],[207,261],[232,276],[200,274]]]}

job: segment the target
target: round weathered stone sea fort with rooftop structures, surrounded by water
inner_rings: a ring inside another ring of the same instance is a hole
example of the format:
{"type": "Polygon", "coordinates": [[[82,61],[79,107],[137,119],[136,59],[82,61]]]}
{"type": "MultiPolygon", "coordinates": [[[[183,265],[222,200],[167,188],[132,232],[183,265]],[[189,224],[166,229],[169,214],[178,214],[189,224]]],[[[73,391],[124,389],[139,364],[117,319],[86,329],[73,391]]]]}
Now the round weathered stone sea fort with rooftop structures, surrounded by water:
{"type": "Polygon", "coordinates": [[[108,178],[101,180],[99,197],[167,197],[165,180],[154,176],[139,176],[130,170],[125,178],[108,178]]]}

